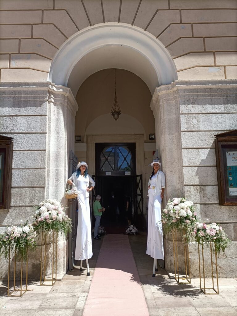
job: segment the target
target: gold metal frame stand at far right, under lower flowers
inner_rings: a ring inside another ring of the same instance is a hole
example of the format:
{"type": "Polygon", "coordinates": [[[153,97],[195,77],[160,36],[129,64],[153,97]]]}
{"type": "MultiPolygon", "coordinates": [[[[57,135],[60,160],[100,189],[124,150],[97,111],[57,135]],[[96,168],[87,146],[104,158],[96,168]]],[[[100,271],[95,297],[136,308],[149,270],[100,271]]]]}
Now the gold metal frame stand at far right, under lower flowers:
{"type": "Polygon", "coordinates": [[[200,246],[198,243],[198,264],[199,264],[199,279],[200,279],[200,290],[204,294],[219,294],[219,283],[218,283],[218,269],[217,269],[217,255],[216,255],[216,243],[214,242],[215,245],[215,259],[216,259],[216,283],[217,283],[217,289],[214,287],[214,275],[213,275],[213,255],[212,255],[212,242],[210,242],[210,253],[211,253],[211,276],[212,276],[212,288],[207,288],[206,287],[206,282],[205,282],[205,264],[204,264],[204,252],[203,252],[203,242],[202,242],[202,262],[203,262],[203,282],[204,282],[204,287],[202,287],[202,281],[201,281],[201,264],[200,264],[200,246]],[[212,289],[214,292],[209,293],[206,290],[207,289],[212,289]]]}

